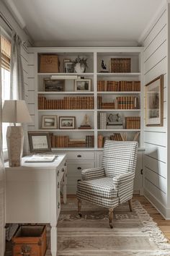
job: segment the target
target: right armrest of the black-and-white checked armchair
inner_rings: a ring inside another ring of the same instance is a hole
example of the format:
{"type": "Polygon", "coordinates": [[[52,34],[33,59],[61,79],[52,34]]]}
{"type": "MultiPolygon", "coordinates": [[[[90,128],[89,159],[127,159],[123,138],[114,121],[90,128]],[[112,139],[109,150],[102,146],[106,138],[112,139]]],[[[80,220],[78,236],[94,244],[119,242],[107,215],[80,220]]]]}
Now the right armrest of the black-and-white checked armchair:
{"type": "Polygon", "coordinates": [[[134,171],[129,171],[126,174],[120,174],[113,177],[112,179],[113,179],[113,184],[115,186],[115,189],[118,191],[122,184],[128,184],[129,182],[133,181],[134,177],[135,177],[134,171]]]}

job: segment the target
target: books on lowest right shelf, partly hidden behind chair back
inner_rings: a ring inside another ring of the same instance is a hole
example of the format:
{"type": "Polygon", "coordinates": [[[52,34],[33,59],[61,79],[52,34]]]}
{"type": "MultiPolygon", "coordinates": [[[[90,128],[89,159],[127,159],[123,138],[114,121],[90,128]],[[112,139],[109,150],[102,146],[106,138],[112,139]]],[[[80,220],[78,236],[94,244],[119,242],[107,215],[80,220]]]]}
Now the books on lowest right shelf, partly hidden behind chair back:
{"type": "MultiPolygon", "coordinates": [[[[139,135],[140,135],[140,132],[135,132],[135,135],[133,137],[133,141],[138,141],[139,135]]],[[[97,136],[97,147],[98,148],[103,148],[104,147],[104,142],[106,140],[127,141],[127,138],[128,137],[127,137],[126,132],[114,133],[113,135],[110,135],[110,136],[98,135],[97,136]]]]}

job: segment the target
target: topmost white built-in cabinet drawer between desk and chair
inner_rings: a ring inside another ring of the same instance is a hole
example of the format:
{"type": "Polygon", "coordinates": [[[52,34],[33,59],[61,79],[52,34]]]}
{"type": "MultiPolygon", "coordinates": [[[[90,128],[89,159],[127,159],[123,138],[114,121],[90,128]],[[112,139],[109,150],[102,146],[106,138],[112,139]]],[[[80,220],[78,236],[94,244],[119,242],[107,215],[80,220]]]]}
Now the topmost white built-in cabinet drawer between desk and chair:
{"type": "Polygon", "coordinates": [[[93,151],[74,151],[67,153],[67,160],[94,160],[94,152],[93,151]]]}

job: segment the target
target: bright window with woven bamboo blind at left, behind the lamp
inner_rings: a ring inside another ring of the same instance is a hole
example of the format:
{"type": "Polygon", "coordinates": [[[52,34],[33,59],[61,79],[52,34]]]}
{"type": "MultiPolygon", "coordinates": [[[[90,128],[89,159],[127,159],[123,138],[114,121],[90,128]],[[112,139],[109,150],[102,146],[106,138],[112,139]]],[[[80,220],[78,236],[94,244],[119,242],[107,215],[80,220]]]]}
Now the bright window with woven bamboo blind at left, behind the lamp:
{"type": "MultiPolygon", "coordinates": [[[[10,57],[11,43],[1,35],[1,100],[2,106],[5,100],[10,99],[10,57]]],[[[7,150],[6,129],[7,123],[2,123],[2,150],[7,150]]]]}

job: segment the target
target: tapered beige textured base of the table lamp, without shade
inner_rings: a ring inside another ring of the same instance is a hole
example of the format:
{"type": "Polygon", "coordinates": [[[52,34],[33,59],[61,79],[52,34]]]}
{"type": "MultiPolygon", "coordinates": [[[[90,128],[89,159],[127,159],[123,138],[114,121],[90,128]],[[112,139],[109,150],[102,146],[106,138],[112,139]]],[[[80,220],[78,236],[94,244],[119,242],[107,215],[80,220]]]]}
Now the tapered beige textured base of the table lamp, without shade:
{"type": "Polygon", "coordinates": [[[9,155],[9,166],[21,166],[24,145],[23,128],[21,126],[8,127],[6,132],[6,142],[9,155]]]}

